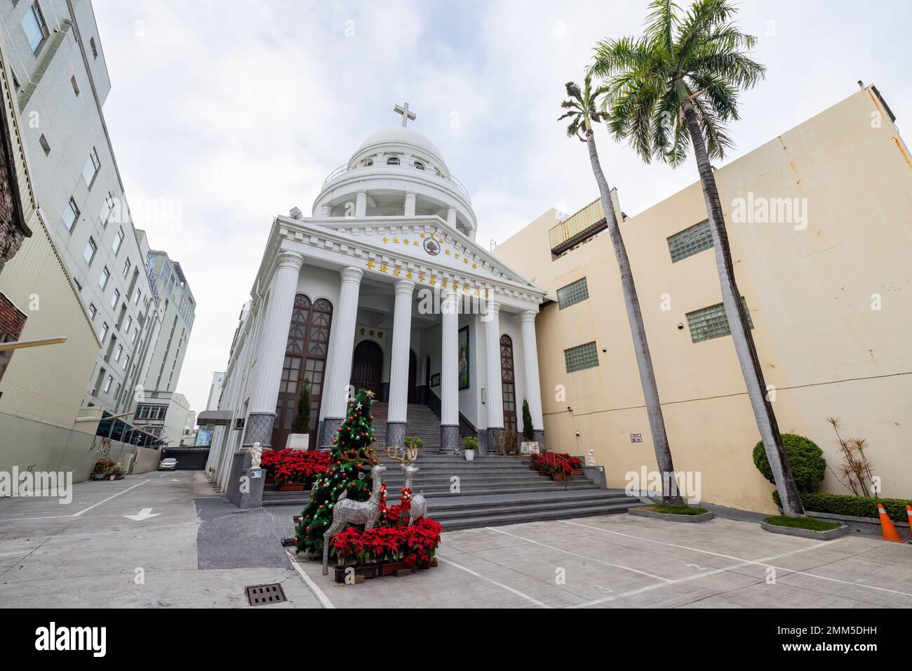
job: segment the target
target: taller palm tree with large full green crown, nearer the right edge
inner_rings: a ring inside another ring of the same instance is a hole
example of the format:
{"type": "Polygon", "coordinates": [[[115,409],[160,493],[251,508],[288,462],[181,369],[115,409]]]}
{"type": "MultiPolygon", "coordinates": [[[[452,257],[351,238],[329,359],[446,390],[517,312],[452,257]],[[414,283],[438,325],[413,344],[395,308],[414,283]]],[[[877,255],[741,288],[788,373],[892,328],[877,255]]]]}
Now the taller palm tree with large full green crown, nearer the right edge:
{"type": "Polygon", "coordinates": [[[606,79],[603,110],[610,107],[611,133],[616,139],[626,138],[646,163],[655,158],[677,166],[693,145],[716,250],[722,304],[753,414],[782,510],[800,516],[804,508],[766,396],[710,165],[710,158],[722,158],[731,147],[725,125],[738,119],[739,90],[755,86],[766,68],[750,58],[756,38],[731,21],[736,10],[729,0],[696,0],[683,16],[671,0],[655,0],[650,8],[644,35],[599,42],[591,71],[606,79]]]}

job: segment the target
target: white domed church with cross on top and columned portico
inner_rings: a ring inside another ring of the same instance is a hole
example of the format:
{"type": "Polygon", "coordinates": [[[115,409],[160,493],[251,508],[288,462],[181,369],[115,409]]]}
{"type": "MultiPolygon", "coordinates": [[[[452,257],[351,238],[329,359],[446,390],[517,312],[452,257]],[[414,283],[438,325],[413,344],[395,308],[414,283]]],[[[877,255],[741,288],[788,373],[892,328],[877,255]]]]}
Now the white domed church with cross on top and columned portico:
{"type": "MultiPolygon", "coordinates": [[[[306,217],[276,216],[225,369],[209,467],[225,487],[232,455],[282,449],[302,385],[311,438],[327,449],[353,390],[387,404],[388,445],[409,435],[409,404],[440,418],[440,447],[477,435],[513,451],[528,401],[544,441],[535,316],[544,291],[475,242],[465,187],[437,146],[402,125],[375,132],[329,174],[306,217]]],[[[211,417],[209,415],[212,415],[211,417]]]]}

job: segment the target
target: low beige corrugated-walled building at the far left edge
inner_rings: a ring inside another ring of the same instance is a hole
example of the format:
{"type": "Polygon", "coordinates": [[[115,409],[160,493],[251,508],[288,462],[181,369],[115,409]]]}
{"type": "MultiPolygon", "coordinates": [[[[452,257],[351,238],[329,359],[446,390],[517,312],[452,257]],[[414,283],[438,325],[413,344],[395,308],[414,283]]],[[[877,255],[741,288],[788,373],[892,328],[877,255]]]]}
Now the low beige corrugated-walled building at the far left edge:
{"type": "MultiPolygon", "coordinates": [[[[31,235],[0,273],[0,341],[66,336],[62,344],[5,352],[0,365],[0,471],[73,470],[88,476],[97,422],[78,423],[86,383],[101,350],[78,288],[64,267],[47,221],[36,206],[22,122],[14,101],[7,51],[0,36],[5,179],[4,210],[15,201],[31,235]],[[16,193],[11,193],[15,191],[16,193]],[[8,196],[8,200],[7,200],[8,196]]],[[[6,222],[8,213],[4,213],[6,222]]],[[[0,247],[8,249],[8,238],[0,247]]],[[[15,251],[15,250],[10,250],[15,251]]]]}

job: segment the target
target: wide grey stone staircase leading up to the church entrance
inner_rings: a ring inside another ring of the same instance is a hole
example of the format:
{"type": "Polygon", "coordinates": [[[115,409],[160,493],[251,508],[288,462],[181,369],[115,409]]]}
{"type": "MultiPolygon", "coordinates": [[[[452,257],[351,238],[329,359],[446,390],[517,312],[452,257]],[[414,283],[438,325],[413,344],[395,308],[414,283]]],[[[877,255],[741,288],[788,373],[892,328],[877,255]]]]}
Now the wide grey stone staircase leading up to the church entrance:
{"type": "MultiPolygon", "coordinates": [[[[383,445],[386,404],[373,404],[372,411],[374,434],[378,445],[383,445]]],[[[623,513],[640,505],[638,498],[628,498],[623,490],[599,488],[585,476],[554,482],[531,470],[519,456],[476,456],[467,462],[464,456],[440,452],[440,420],[421,405],[409,405],[407,434],[420,435],[425,441],[416,461],[420,472],[412,480],[412,490],[424,494],[428,515],[446,530],[623,513]]],[[[399,462],[383,456],[383,464],[392,505],[399,501],[405,478],[399,462]]],[[[263,505],[303,508],[309,498],[307,491],[279,492],[275,485],[267,485],[263,505]]]]}

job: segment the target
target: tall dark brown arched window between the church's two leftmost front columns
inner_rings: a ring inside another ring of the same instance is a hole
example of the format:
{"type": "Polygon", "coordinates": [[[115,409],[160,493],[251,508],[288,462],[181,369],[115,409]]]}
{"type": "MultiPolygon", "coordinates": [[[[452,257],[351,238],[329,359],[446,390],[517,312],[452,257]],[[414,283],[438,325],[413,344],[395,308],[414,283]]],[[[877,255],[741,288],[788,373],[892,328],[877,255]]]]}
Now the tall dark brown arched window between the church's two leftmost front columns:
{"type": "Polygon", "coordinates": [[[333,306],[326,299],[310,302],[304,294],[295,296],[285,345],[285,364],[275,404],[273,447],[285,448],[285,439],[297,414],[297,401],[306,380],[310,384],[310,430],[316,431],[323,397],[323,377],[329,350],[333,306]]]}

